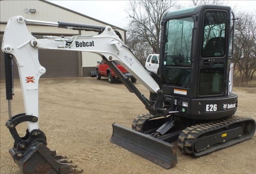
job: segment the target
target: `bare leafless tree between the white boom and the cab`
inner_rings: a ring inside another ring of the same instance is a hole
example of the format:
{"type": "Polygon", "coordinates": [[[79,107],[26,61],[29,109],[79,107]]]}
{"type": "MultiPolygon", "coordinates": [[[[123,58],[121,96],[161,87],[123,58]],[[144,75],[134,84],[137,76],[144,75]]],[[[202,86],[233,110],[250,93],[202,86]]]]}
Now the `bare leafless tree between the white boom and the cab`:
{"type": "Polygon", "coordinates": [[[151,47],[152,51],[149,52],[159,53],[162,16],[171,8],[179,8],[176,6],[176,1],[130,1],[129,8],[126,10],[130,18],[128,40],[134,42],[133,49],[137,53],[143,52],[142,47],[145,49],[151,47]]]}

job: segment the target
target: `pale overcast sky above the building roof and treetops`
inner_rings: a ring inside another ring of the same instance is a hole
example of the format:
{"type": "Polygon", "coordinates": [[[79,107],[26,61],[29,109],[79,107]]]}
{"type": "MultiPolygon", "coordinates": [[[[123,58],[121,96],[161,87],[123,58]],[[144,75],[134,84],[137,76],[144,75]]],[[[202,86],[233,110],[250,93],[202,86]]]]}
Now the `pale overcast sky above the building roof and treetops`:
{"type": "MultiPolygon", "coordinates": [[[[77,11],[86,16],[101,20],[111,25],[115,25],[124,29],[128,29],[127,6],[129,1],[125,0],[48,0],[51,3],[60,5],[73,11],[77,11]]],[[[189,1],[180,1],[181,4],[187,5],[189,1]]],[[[256,11],[256,0],[229,0],[227,4],[232,8],[236,6],[240,11],[256,11]]],[[[68,21],[71,22],[71,21],[68,21]]]]}

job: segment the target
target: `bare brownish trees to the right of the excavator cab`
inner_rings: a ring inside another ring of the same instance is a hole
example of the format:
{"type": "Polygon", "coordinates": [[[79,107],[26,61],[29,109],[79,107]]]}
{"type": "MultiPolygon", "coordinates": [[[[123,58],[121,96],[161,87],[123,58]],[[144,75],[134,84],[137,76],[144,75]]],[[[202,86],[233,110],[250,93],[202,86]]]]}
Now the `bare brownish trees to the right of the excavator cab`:
{"type": "Polygon", "coordinates": [[[236,15],[234,33],[235,84],[248,86],[256,72],[256,16],[250,13],[236,15]]]}

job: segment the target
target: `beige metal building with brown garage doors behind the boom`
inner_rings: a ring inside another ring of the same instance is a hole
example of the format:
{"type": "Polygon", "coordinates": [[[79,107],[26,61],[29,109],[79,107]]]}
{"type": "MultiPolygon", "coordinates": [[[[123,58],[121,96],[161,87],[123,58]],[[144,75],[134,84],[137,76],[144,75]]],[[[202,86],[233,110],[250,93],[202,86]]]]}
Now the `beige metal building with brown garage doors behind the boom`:
{"type": "MultiPolygon", "coordinates": [[[[25,19],[42,20],[50,22],[73,22],[89,25],[110,25],[119,31],[126,41],[126,30],[107,24],[103,21],[88,17],[76,11],[69,10],[56,4],[42,0],[1,0],[0,1],[0,42],[2,40],[5,26],[10,17],[20,15],[25,19]]],[[[28,25],[28,30],[33,35],[95,35],[95,32],[68,30],[53,26],[28,25]]],[[[18,32],[18,31],[17,31],[18,32]]],[[[81,77],[90,76],[90,71],[96,69],[97,61],[101,57],[97,54],[39,49],[39,62],[46,68],[42,77],[81,77]]],[[[4,53],[0,51],[0,79],[4,79],[4,53]]],[[[14,77],[18,78],[18,69],[14,63],[14,77]]]]}

